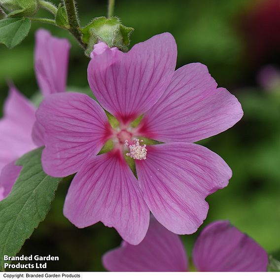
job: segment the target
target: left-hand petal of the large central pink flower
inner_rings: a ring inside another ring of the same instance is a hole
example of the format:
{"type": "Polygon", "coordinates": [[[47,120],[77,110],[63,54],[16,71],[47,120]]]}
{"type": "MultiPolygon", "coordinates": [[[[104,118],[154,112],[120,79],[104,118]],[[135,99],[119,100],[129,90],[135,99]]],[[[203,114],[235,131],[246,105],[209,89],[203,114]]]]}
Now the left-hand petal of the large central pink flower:
{"type": "Polygon", "coordinates": [[[50,95],[40,104],[36,118],[44,129],[42,166],[54,177],[76,173],[110,136],[105,111],[85,94],[50,95]]]}

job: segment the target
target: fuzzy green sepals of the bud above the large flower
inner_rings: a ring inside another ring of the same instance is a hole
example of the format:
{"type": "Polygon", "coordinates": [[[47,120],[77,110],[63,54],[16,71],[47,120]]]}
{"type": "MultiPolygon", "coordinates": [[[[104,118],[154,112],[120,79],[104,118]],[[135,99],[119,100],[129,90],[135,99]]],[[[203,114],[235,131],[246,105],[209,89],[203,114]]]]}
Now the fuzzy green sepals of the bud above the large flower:
{"type": "Polygon", "coordinates": [[[98,41],[105,42],[110,48],[117,47],[126,52],[130,43],[129,36],[133,31],[132,27],[122,25],[117,17],[95,18],[86,27],[81,28],[82,40],[88,45],[86,54],[90,54],[93,45],[98,41]]]}

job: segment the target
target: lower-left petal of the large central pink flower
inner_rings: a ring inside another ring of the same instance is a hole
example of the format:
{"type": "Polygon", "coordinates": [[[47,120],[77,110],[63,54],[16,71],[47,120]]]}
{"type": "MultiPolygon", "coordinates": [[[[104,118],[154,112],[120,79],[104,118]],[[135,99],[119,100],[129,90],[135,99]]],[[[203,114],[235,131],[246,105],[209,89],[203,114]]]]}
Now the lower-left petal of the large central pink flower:
{"type": "Polygon", "coordinates": [[[136,177],[119,151],[87,161],[71,182],[64,215],[79,228],[102,221],[130,244],[148,229],[149,209],[136,177]]]}

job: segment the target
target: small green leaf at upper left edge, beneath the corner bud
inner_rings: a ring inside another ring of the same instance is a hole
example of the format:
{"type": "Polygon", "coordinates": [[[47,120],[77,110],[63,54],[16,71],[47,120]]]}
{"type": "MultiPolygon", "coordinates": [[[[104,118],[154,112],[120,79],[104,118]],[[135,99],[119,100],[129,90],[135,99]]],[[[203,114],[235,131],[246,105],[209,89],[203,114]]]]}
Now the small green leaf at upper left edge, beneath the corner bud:
{"type": "Polygon", "coordinates": [[[0,20],[0,43],[8,48],[18,45],[29,33],[31,20],[29,18],[6,18],[0,20]]]}

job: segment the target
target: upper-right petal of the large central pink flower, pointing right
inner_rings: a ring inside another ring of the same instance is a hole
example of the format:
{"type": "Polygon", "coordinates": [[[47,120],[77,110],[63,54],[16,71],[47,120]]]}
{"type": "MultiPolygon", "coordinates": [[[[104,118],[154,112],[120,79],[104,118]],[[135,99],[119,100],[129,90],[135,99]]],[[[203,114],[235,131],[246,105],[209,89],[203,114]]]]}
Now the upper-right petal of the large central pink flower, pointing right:
{"type": "Polygon", "coordinates": [[[144,115],[140,135],[163,142],[195,142],[232,127],[243,116],[241,105],[226,89],[216,87],[203,64],[176,70],[164,95],[144,115]]]}

